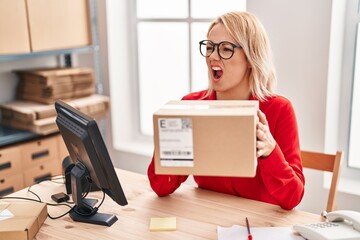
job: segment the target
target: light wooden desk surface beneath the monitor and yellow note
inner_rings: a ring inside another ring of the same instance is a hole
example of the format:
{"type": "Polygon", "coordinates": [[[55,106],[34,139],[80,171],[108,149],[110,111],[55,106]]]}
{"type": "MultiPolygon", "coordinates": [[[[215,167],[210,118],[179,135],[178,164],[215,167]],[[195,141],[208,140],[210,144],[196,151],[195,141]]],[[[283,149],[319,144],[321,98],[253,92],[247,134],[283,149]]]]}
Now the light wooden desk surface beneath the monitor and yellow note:
{"type": "MultiPolygon", "coordinates": [[[[278,206],[244,199],[183,184],[170,196],[159,198],[151,190],[145,175],[117,169],[119,180],[128,199],[127,206],[117,205],[110,197],[99,212],[115,214],[118,221],[111,227],[74,222],[69,215],[57,220],[47,218],[37,240],[42,239],[217,239],[216,227],[245,226],[248,217],[254,227],[292,226],[320,221],[320,216],[298,210],[286,211],[278,206]],[[150,232],[151,217],[177,219],[177,230],[150,232]]],[[[32,187],[44,202],[51,194],[65,192],[63,184],[43,182],[32,187]]],[[[33,197],[27,189],[12,196],[33,197]]],[[[101,199],[101,192],[91,196],[101,199]]],[[[59,216],[69,208],[48,206],[51,216],[59,216]]]]}

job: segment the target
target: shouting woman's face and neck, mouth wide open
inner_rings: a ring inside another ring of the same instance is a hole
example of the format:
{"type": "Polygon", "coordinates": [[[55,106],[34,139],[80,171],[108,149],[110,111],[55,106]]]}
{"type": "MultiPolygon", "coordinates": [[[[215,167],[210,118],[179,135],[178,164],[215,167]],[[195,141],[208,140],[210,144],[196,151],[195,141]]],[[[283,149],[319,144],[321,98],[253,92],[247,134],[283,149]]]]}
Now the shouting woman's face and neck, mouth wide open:
{"type": "MultiPolygon", "coordinates": [[[[208,40],[219,43],[228,41],[239,45],[225,30],[223,24],[216,24],[208,35],[208,40]]],[[[209,77],[216,91],[217,99],[247,100],[250,97],[250,64],[241,48],[234,49],[234,55],[227,60],[220,58],[217,47],[206,58],[209,77]]]]}

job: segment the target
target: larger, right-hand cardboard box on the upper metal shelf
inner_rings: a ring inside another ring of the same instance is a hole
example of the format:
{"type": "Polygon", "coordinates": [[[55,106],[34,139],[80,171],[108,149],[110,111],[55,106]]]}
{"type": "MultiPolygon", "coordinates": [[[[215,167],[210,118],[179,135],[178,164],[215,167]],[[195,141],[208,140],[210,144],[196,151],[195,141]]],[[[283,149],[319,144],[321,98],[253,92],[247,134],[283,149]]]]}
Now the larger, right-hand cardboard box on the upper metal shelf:
{"type": "Polygon", "coordinates": [[[92,44],[87,0],[27,0],[32,51],[92,44]]]}

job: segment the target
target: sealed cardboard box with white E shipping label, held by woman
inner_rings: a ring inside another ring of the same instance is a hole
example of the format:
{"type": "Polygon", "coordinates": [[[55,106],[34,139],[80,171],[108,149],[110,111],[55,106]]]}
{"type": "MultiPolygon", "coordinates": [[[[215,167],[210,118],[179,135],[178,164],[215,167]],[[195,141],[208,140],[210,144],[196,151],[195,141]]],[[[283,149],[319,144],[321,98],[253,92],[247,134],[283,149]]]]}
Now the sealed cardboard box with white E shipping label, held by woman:
{"type": "Polygon", "coordinates": [[[153,115],[157,174],[253,177],[257,101],[171,101],[153,115]]]}

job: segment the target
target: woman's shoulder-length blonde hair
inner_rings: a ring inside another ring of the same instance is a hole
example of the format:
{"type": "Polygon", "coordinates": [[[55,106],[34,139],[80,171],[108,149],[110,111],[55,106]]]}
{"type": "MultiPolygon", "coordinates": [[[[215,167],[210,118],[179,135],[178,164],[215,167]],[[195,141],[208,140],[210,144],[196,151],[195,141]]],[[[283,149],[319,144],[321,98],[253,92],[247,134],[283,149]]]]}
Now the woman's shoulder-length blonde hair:
{"type": "MultiPolygon", "coordinates": [[[[260,101],[273,96],[276,84],[275,67],[270,43],[260,21],[249,12],[229,12],[219,16],[210,24],[207,35],[216,24],[223,24],[227,32],[242,47],[251,65],[249,85],[252,95],[260,101]]],[[[212,91],[209,80],[206,96],[212,91]]]]}

